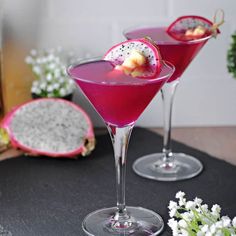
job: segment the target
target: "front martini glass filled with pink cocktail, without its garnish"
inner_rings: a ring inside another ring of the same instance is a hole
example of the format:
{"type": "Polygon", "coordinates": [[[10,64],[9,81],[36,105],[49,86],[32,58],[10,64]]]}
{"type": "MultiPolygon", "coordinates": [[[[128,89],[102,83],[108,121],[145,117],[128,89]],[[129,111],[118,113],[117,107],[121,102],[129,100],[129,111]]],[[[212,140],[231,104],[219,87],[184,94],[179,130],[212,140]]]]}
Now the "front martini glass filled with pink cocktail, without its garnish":
{"type": "Polygon", "coordinates": [[[155,212],[125,203],[126,156],[135,121],[163,84],[174,67],[164,63],[155,79],[138,79],[114,70],[109,61],[82,62],[68,69],[95,110],[104,120],[111,136],[116,167],[116,207],[94,211],[82,227],[87,235],[157,235],[163,220],[155,212]]]}

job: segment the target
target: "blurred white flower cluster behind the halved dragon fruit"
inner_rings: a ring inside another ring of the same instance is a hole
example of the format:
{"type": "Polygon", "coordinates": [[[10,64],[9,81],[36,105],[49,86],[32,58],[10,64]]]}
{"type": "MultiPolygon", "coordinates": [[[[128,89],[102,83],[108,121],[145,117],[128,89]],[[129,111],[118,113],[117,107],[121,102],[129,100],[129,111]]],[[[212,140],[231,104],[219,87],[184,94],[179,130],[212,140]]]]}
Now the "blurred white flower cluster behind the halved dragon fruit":
{"type": "Polygon", "coordinates": [[[33,49],[25,62],[31,66],[37,78],[32,84],[32,93],[40,97],[64,97],[74,91],[75,84],[66,73],[60,48],[44,51],[33,49]]]}

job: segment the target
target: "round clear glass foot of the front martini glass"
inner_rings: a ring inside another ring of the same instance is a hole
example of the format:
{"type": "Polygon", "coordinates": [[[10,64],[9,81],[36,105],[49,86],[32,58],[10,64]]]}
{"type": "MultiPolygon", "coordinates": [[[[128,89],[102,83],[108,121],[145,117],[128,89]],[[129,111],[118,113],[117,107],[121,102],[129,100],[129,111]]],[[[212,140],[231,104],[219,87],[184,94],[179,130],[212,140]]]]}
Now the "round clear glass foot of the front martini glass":
{"type": "Polygon", "coordinates": [[[164,228],[164,222],[157,213],[141,208],[127,207],[125,217],[117,220],[117,208],[104,208],[87,215],[82,227],[87,235],[110,236],[158,235],[164,228]]]}

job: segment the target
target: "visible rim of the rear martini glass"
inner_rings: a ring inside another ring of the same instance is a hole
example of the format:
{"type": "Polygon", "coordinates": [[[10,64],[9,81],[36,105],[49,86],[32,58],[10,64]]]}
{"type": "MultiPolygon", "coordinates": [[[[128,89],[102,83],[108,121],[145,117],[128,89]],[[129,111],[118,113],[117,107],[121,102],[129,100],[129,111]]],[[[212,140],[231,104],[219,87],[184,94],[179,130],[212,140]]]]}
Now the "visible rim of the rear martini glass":
{"type": "MultiPolygon", "coordinates": [[[[127,39],[126,37],[126,34],[131,31],[131,30],[138,30],[138,29],[143,29],[143,28],[160,28],[160,27],[164,27],[164,28],[167,28],[168,26],[166,26],[165,24],[156,24],[156,23],[149,23],[149,24],[140,24],[140,25],[134,25],[134,26],[130,26],[128,28],[125,28],[123,31],[122,31],[122,34],[123,36],[127,39]]],[[[175,40],[175,42],[168,42],[166,43],[165,41],[161,40],[161,41],[157,41],[154,40],[157,45],[165,45],[165,44],[171,44],[171,45],[179,45],[179,44],[195,44],[195,43],[199,43],[199,42],[202,42],[202,41],[206,41],[210,38],[212,38],[213,36],[212,35],[208,35],[206,37],[203,37],[203,38],[200,38],[200,39],[193,39],[193,40],[189,40],[189,41],[178,41],[178,40],[175,40]]]]}

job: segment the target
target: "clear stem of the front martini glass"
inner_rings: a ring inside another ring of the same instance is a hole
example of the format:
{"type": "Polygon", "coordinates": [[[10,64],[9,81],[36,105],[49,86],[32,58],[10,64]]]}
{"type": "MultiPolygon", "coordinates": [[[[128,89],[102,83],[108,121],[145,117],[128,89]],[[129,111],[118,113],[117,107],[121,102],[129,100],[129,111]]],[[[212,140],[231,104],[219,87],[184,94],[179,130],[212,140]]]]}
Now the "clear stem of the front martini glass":
{"type": "Polygon", "coordinates": [[[115,156],[117,217],[125,217],[127,215],[125,205],[126,157],[133,125],[119,128],[107,124],[107,128],[111,136],[115,156]]]}

